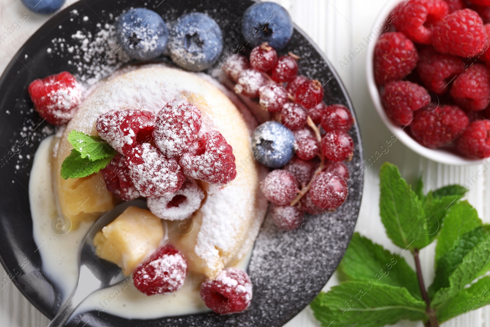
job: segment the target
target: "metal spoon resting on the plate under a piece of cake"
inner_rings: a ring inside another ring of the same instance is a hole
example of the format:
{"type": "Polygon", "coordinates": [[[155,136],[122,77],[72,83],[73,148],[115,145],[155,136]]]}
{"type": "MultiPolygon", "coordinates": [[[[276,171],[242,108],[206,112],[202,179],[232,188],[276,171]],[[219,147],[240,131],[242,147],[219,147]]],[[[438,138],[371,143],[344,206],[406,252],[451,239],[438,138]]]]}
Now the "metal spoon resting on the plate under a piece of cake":
{"type": "Polygon", "coordinates": [[[70,319],[76,307],[85,300],[90,294],[102,288],[115,285],[125,278],[123,271],[117,265],[97,256],[94,247],[94,236],[116,219],[129,206],[147,208],[147,202],[143,200],[134,200],[123,202],[111,211],[107,211],[95,222],[90,228],[87,235],[80,243],[78,250],[78,283],[75,290],[68,300],[61,306],[49,323],[48,327],[63,327],[70,319]]]}

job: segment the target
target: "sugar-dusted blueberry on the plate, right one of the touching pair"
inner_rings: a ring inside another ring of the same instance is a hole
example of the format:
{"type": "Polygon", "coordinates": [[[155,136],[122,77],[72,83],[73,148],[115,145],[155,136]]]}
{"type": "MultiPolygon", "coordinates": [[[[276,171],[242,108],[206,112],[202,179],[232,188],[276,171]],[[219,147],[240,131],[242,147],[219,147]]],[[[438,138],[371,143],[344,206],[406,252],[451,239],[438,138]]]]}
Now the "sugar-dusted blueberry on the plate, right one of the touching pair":
{"type": "Polygon", "coordinates": [[[172,25],[169,50],[173,62],[184,69],[209,68],[223,50],[220,26],[200,12],[183,15],[172,25]]]}

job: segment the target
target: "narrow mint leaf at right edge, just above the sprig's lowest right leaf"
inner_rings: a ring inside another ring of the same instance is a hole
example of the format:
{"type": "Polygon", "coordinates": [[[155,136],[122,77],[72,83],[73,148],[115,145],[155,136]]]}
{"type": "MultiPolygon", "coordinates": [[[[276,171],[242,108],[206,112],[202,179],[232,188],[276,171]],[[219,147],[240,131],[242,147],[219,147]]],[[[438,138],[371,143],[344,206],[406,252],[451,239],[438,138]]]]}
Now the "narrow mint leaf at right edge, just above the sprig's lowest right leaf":
{"type": "Polygon", "coordinates": [[[464,257],[461,264],[449,276],[449,287],[441,288],[434,294],[432,305],[438,308],[455,297],[466,284],[487,273],[490,269],[490,234],[464,257]]]}

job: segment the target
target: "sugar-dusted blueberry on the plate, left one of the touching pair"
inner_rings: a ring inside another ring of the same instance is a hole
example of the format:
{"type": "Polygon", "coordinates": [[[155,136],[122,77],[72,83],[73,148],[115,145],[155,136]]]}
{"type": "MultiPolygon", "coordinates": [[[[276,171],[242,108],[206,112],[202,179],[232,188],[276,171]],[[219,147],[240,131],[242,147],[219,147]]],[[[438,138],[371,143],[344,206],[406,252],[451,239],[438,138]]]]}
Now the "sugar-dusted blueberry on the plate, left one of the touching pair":
{"type": "Polygon", "coordinates": [[[162,17],[146,8],[130,9],[116,25],[119,43],[133,59],[150,60],[165,50],[169,30],[162,17]]]}

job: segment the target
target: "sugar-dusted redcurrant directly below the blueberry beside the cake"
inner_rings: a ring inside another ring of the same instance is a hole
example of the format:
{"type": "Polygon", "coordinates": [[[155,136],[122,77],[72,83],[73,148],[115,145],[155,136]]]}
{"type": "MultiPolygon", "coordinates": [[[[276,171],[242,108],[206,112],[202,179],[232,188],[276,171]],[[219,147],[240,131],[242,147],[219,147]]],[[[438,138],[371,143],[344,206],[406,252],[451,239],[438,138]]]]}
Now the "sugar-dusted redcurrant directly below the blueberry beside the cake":
{"type": "Polygon", "coordinates": [[[260,189],[267,200],[277,205],[291,203],[298,192],[296,178],[283,169],[276,169],[267,174],[260,185],[260,189]]]}

